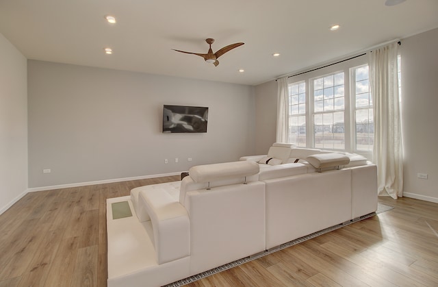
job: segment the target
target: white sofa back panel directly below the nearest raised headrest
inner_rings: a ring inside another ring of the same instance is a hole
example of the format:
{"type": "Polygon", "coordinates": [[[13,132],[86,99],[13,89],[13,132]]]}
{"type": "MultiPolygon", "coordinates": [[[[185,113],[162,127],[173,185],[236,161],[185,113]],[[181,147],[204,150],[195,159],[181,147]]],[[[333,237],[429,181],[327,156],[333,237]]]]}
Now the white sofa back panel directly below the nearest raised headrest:
{"type": "Polygon", "coordinates": [[[250,182],[187,193],[190,273],[265,250],[265,184],[250,182]]]}

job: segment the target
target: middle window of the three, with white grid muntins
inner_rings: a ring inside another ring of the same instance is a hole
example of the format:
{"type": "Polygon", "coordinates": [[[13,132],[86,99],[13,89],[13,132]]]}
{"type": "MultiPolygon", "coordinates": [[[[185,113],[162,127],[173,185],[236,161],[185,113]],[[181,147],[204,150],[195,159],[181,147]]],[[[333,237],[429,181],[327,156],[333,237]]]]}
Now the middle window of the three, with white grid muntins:
{"type": "Polygon", "coordinates": [[[344,73],[313,79],[314,147],[345,149],[344,73]]]}

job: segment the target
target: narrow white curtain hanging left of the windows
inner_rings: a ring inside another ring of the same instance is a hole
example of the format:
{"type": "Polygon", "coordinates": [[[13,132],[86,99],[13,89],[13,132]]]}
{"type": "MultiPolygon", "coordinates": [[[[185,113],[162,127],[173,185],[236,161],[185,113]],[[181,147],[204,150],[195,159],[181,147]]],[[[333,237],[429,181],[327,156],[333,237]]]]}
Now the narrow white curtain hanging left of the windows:
{"type": "Polygon", "coordinates": [[[276,142],[287,142],[289,140],[288,116],[289,98],[287,95],[287,77],[277,79],[278,85],[276,104],[276,142]]]}

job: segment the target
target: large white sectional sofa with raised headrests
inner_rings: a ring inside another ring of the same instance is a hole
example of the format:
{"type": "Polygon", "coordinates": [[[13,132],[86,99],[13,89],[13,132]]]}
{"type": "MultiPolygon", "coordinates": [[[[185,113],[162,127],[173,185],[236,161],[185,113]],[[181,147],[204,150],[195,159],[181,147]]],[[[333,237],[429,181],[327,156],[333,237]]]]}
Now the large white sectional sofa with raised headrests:
{"type": "Polygon", "coordinates": [[[162,286],[376,208],[376,166],[358,155],[274,144],[267,155],[194,166],[181,182],[107,199],[107,283],[162,286]],[[259,163],[266,157],[277,164],[259,163]],[[113,219],[120,201],[133,216],[113,219]]]}

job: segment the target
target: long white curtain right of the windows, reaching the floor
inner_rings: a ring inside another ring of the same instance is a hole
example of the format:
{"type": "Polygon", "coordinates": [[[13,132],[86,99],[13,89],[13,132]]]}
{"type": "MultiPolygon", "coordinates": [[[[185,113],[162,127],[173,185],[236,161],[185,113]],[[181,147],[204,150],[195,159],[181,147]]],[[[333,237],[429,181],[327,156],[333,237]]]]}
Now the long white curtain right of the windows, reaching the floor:
{"type": "Polygon", "coordinates": [[[373,162],[377,165],[378,195],[403,195],[402,131],[398,98],[398,44],[368,53],[374,110],[373,162]]]}

